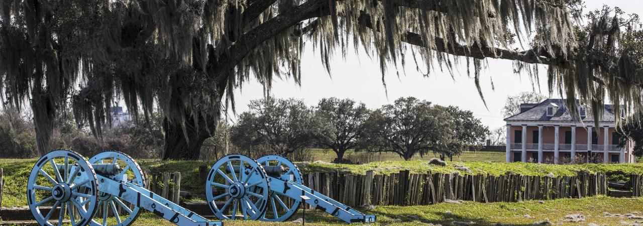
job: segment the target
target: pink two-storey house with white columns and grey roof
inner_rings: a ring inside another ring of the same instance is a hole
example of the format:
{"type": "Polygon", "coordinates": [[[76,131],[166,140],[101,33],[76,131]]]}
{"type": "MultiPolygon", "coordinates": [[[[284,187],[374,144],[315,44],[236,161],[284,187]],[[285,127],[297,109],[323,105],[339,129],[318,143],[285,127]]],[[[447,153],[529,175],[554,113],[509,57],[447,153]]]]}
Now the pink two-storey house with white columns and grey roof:
{"type": "Polygon", "coordinates": [[[507,162],[635,162],[633,141],[618,145],[613,109],[604,108],[595,127],[590,107],[579,105],[580,120],[574,120],[564,99],[521,104],[519,114],[505,118],[507,162]]]}

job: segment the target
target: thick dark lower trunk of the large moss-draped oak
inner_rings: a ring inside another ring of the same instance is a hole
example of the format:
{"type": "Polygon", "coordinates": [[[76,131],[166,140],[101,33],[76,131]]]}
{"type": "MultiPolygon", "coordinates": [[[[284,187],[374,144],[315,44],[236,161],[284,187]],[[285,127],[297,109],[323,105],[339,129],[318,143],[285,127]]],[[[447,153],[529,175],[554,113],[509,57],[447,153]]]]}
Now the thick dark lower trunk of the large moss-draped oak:
{"type": "Polygon", "coordinates": [[[193,123],[194,121],[192,121],[192,119],[186,119],[184,133],[181,123],[170,121],[167,118],[163,119],[163,130],[165,130],[163,160],[199,159],[201,146],[203,146],[203,142],[208,139],[208,137],[212,137],[216,129],[216,124],[210,120],[200,120],[199,126],[196,127],[193,123]],[[210,131],[208,131],[206,126],[209,127],[210,131]]]}

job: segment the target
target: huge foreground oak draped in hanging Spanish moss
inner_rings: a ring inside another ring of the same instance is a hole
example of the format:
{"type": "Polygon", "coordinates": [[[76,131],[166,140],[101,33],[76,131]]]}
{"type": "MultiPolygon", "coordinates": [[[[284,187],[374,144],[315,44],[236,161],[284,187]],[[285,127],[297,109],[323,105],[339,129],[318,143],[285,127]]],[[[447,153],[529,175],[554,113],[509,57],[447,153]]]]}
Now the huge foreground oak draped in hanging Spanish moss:
{"type": "MultiPolygon", "coordinates": [[[[581,19],[579,0],[4,0],[0,2],[2,98],[30,105],[39,151],[51,148],[60,109],[96,137],[106,109],[163,114],[164,159],[197,159],[233,91],[251,76],[300,81],[300,55],[322,64],[363,48],[381,71],[412,59],[424,73],[465,63],[480,89],[487,58],[599,111],[641,109],[638,17],[604,8],[581,19]],[[582,24],[582,21],[588,21],[582,24]]],[[[484,100],[484,99],[483,99],[484,100]]],[[[570,101],[571,112],[576,103],[570,101]]],[[[600,112],[593,112],[600,116],[600,112]]]]}

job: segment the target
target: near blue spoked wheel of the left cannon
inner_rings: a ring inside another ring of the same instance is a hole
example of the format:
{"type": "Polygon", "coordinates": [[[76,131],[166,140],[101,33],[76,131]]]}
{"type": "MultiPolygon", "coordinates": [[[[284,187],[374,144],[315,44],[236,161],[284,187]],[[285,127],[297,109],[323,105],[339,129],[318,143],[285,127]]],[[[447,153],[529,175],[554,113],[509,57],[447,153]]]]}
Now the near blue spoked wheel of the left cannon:
{"type": "Polygon", "coordinates": [[[51,151],[33,166],[27,199],[40,225],[86,225],[98,206],[96,173],[76,152],[51,151]]]}

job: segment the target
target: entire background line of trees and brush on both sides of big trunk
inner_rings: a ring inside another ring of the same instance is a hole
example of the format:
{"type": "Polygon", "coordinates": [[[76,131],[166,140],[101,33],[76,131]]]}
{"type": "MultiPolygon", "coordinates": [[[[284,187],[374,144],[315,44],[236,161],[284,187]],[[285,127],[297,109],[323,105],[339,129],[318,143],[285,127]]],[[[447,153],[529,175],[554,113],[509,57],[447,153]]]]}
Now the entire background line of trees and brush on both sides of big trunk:
{"type": "MultiPolygon", "coordinates": [[[[349,150],[392,152],[403,159],[435,153],[451,159],[484,143],[487,126],[469,110],[434,105],[417,98],[399,98],[379,109],[368,109],[351,99],[324,98],[316,106],[303,100],[266,98],[250,101],[249,109],[232,124],[221,120],[213,136],[204,141],[200,159],[215,160],[227,153],[253,157],[278,154],[296,161],[311,159],[310,148],[332,150],[334,162],[350,162],[349,150]]],[[[29,111],[5,108],[0,112],[3,158],[38,157],[35,130],[29,111]]],[[[103,128],[96,139],[88,125],[78,124],[73,113],[57,117],[54,148],[75,150],[91,157],[104,150],[118,150],[136,158],[163,156],[163,117],[103,128]]]]}

